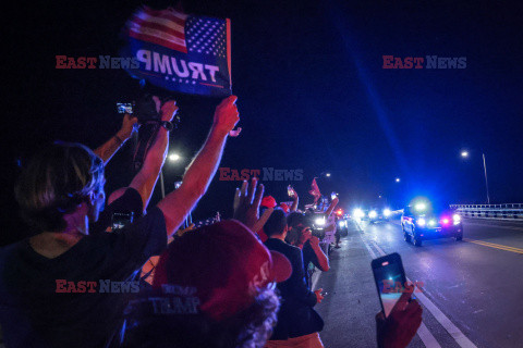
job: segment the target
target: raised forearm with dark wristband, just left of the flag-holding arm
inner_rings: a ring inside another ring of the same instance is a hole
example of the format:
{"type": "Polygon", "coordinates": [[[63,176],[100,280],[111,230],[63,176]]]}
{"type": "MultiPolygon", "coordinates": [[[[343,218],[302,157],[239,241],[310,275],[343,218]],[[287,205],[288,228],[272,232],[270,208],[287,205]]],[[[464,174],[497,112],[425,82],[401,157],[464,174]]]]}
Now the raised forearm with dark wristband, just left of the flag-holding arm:
{"type": "MultiPolygon", "coordinates": [[[[159,100],[155,98],[155,101],[159,105],[159,100]]],[[[175,101],[167,101],[160,109],[161,121],[171,121],[178,112],[175,101]]],[[[130,187],[136,189],[142,196],[144,203],[144,210],[149,203],[153,189],[155,188],[158,175],[160,174],[161,166],[167,157],[167,150],[169,147],[169,132],[165,127],[160,127],[156,134],[156,138],[150,146],[147,154],[145,156],[144,164],[138,174],[131,182],[130,187]]]]}

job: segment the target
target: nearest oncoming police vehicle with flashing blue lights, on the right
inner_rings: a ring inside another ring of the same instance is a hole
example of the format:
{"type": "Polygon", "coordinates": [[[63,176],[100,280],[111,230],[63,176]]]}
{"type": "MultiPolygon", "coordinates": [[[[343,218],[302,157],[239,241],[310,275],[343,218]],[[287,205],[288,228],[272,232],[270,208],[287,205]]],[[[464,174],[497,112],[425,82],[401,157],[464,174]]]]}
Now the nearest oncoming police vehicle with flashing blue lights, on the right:
{"type": "Polygon", "coordinates": [[[463,239],[461,216],[451,209],[438,209],[429,202],[405,207],[401,215],[401,229],[405,241],[412,241],[416,247],[421,247],[426,239],[463,239]]]}

